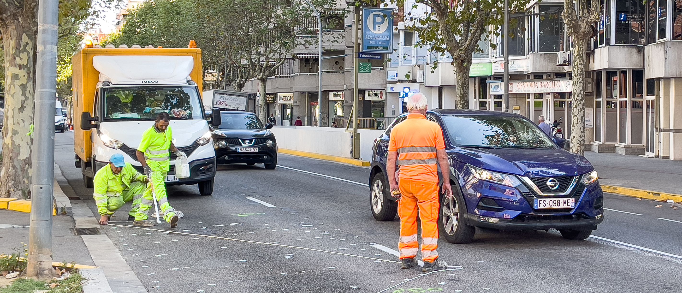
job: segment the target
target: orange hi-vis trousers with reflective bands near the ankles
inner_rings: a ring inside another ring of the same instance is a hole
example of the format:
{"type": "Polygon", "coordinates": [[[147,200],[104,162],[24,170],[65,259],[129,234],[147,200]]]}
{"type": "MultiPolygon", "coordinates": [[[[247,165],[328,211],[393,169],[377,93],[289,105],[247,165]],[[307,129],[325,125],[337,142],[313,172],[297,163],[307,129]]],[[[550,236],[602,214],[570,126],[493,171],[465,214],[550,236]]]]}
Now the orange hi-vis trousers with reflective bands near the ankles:
{"type": "Polygon", "coordinates": [[[438,183],[401,178],[398,188],[400,216],[400,259],[414,258],[419,250],[417,242],[417,207],[421,219],[421,258],[434,262],[438,258],[438,183]]]}

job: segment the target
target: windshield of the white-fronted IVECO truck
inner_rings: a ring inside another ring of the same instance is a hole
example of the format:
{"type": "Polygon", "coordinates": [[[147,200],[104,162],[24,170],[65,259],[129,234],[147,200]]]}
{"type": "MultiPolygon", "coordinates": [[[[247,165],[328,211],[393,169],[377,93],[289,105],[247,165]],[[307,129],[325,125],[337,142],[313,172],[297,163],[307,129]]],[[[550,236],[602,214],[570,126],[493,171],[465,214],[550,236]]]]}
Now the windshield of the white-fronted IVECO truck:
{"type": "Polygon", "coordinates": [[[194,87],[111,87],[102,90],[105,120],[203,119],[194,87]]]}

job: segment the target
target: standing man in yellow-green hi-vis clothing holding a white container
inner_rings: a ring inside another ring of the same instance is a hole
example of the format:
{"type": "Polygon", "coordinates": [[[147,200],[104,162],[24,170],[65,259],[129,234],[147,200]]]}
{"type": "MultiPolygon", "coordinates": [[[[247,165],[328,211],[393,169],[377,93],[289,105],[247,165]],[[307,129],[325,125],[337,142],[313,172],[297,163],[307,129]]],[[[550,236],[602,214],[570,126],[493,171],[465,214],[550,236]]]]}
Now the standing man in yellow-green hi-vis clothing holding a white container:
{"type": "Polygon", "coordinates": [[[168,113],[159,113],[154,125],[142,135],[142,142],[137,148],[137,160],[142,164],[150,181],[143,200],[140,202],[139,213],[135,216],[134,226],[154,226],[154,223],[147,221],[147,211],[153,204],[153,196],[156,196],[159,208],[166,222],[170,223],[170,228],[177,226],[179,217],[175,209],[168,204],[166,196],[166,174],[170,170],[171,151],[178,157],[187,157],[187,155],[173,145],[173,130],[168,127],[169,123],[168,113]]]}

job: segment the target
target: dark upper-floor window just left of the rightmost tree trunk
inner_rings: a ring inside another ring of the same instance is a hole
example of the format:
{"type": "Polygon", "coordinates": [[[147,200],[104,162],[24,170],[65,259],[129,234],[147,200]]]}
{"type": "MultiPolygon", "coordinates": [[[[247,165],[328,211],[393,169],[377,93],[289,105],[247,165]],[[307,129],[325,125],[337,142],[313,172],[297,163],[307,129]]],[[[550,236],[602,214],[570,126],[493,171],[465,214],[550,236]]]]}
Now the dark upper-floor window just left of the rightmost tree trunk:
{"type": "MultiPolygon", "coordinates": [[[[556,12],[562,9],[563,6],[540,6],[540,12],[556,12]]],[[[537,50],[539,52],[559,52],[563,50],[563,20],[561,20],[561,15],[549,13],[539,16],[537,50]]]]}

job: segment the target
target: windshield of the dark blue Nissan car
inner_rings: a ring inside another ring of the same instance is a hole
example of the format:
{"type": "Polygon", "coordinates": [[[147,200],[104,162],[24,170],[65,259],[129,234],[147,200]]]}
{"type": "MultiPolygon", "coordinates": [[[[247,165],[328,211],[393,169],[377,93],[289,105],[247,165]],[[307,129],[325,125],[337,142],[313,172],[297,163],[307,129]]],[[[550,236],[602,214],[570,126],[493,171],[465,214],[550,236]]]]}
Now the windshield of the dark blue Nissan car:
{"type": "Polygon", "coordinates": [[[455,146],[554,149],[554,143],[526,119],[497,115],[443,116],[455,146]]]}

